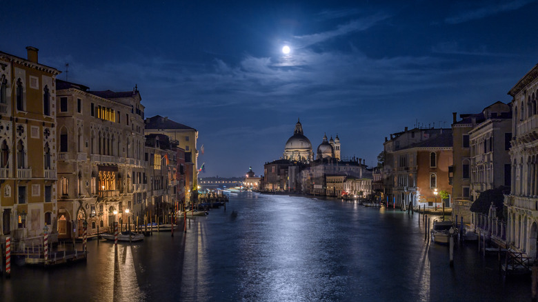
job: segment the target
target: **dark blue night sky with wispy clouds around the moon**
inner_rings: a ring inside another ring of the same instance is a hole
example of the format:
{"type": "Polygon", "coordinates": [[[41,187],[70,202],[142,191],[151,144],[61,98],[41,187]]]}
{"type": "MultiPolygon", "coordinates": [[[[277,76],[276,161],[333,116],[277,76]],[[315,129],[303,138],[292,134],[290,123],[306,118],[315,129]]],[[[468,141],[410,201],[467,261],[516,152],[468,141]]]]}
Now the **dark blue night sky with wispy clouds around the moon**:
{"type": "Polygon", "coordinates": [[[390,133],[508,102],[538,63],[531,0],[78,2],[0,1],[0,50],[37,47],[92,90],[136,83],[146,117],[199,130],[201,177],[262,174],[297,118],[375,165],[390,133]]]}

